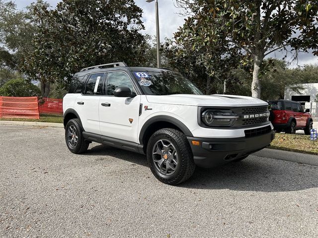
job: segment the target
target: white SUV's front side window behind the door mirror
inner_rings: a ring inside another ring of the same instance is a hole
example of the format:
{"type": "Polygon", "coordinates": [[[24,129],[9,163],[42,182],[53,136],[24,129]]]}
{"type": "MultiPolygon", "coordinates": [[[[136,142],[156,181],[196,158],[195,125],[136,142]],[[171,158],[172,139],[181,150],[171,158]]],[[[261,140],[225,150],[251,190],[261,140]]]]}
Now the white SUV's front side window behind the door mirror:
{"type": "Polygon", "coordinates": [[[130,77],[124,72],[109,72],[106,86],[106,95],[114,95],[118,87],[130,88],[132,93],[136,93],[130,77]]]}

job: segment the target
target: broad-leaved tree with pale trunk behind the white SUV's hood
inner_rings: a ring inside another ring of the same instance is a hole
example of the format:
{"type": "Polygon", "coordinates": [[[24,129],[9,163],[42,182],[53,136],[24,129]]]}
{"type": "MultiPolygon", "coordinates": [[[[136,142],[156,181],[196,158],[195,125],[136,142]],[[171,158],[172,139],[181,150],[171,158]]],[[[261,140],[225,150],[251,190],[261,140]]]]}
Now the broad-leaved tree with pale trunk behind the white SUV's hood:
{"type": "MultiPolygon", "coordinates": [[[[206,56],[220,54],[223,59],[236,51],[250,58],[253,97],[261,96],[259,76],[267,55],[290,50],[297,57],[313,50],[318,56],[317,0],[177,0],[177,4],[191,15],[176,40],[191,39],[193,48],[209,50],[206,56]]],[[[206,56],[208,66],[219,66],[206,56]]]]}

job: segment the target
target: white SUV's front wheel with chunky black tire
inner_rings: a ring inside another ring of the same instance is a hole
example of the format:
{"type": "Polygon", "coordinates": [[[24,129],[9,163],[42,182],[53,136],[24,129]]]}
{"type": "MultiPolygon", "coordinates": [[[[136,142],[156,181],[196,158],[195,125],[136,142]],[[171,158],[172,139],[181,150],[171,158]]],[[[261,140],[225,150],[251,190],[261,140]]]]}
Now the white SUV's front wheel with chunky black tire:
{"type": "Polygon", "coordinates": [[[172,128],[159,129],[150,137],[147,160],[154,176],[170,185],[184,182],[195,170],[187,137],[172,128]]]}

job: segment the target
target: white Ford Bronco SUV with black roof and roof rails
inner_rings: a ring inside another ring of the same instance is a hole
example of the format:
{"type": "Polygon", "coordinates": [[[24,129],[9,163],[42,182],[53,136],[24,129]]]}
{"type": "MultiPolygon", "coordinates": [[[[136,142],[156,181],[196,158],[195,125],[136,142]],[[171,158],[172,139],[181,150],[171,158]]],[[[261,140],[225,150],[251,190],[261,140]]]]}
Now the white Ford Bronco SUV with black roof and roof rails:
{"type": "Polygon", "coordinates": [[[189,179],[195,166],[239,161],[274,139],[268,104],[230,95],[202,95],[166,68],[96,65],[73,77],[64,97],[69,150],[92,141],[146,154],[152,173],[168,184],[189,179]]]}

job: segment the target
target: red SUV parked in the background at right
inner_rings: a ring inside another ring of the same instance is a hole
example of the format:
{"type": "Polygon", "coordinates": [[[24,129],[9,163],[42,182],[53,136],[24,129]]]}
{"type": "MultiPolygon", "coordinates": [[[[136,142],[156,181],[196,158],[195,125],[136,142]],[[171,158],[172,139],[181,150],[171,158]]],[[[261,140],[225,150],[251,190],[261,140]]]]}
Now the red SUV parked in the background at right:
{"type": "Polygon", "coordinates": [[[269,105],[269,119],[276,132],[285,131],[295,134],[296,130],[304,130],[306,135],[310,135],[313,119],[309,114],[309,109],[304,112],[299,102],[288,100],[269,101],[269,105]]]}

